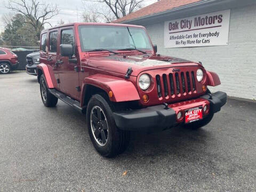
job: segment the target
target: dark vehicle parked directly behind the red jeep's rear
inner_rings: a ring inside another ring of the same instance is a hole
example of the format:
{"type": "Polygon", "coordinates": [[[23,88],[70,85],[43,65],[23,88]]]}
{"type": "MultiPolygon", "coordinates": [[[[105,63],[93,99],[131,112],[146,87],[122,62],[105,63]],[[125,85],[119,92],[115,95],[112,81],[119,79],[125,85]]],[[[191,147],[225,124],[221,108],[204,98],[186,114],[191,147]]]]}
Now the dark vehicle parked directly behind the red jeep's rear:
{"type": "Polygon", "coordinates": [[[27,55],[26,71],[29,75],[37,75],[36,66],[39,64],[40,52],[34,52],[27,55]]]}

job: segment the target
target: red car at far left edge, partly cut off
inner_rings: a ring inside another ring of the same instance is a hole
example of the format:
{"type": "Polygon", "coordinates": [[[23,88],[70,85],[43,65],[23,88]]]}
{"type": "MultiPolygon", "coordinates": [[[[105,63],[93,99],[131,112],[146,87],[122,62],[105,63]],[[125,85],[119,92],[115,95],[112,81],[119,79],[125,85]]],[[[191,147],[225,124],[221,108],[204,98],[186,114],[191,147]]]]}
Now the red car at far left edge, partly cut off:
{"type": "Polygon", "coordinates": [[[10,49],[0,47],[0,74],[9,74],[12,70],[18,69],[18,67],[17,54],[10,49]]]}

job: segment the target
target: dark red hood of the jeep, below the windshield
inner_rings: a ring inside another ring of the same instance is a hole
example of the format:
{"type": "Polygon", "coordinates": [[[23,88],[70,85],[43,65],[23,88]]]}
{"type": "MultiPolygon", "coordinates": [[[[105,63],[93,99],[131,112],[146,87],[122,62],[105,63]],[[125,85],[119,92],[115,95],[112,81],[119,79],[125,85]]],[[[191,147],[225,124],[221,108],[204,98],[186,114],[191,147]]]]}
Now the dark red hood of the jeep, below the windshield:
{"type": "Polygon", "coordinates": [[[199,63],[185,59],[168,57],[164,55],[109,55],[99,57],[90,57],[87,63],[89,67],[126,74],[129,67],[133,72],[131,76],[138,76],[139,73],[146,70],[199,66],[199,63]]]}

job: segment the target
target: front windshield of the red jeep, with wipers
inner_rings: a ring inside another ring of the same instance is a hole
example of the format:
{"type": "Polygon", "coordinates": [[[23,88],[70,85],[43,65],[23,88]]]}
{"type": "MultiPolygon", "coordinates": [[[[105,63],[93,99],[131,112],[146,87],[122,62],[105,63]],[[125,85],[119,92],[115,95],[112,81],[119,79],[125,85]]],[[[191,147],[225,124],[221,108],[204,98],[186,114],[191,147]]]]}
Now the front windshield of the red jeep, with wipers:
{"type": "Polygon", "coordinates": [[[123,26],[79,26],[82,51],[152,50],[148,36],[142,28],[123,26]]]}

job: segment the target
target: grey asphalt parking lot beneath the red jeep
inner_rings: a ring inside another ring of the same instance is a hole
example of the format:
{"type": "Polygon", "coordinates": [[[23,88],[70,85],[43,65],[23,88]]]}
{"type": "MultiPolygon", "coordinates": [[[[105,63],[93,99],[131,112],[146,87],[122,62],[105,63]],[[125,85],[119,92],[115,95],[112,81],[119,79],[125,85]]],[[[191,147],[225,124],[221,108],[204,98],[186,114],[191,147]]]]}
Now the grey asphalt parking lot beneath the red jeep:
{"type": "Polygon", "coordinates": [[[37,78],[14,71],[0,75],[0,123],[0,191],[256,191],[256,103],[229,99],[197,131],[132,133],[108,159],[85,115],[44,107],[37,78]]]}

